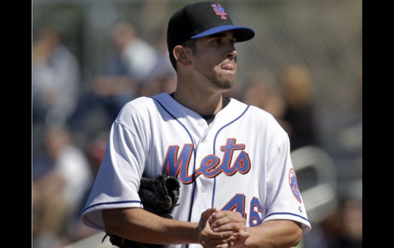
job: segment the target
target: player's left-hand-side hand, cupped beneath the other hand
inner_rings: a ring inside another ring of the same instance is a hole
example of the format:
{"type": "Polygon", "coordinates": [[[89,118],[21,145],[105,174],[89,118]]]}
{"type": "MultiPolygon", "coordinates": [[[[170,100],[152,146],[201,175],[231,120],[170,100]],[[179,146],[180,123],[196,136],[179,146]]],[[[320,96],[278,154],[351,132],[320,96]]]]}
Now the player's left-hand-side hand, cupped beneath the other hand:
{"type": "Polygon", "coordinates": [[[229,231],[218,231],[214,232],[209,224],[209,220],[213,213],[217,212],[216,208],[209,208],[201,214],[201,219],[198,226],[199,243],[204,247],[216,247],[217,245],[227,245],[235,241],[233,237],[234,232],[229,231]]]}

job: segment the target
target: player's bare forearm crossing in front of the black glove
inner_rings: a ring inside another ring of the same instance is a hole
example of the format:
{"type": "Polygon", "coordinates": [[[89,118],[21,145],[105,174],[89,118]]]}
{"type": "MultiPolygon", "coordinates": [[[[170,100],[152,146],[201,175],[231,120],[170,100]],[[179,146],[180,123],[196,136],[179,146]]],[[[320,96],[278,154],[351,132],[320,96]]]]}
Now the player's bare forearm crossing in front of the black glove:
{"type": "Polygon", "coordinates": [[[144,209],[103,210],[107,233],[145,243],[198,243],[197,223],[165,219],[144,209]]]}

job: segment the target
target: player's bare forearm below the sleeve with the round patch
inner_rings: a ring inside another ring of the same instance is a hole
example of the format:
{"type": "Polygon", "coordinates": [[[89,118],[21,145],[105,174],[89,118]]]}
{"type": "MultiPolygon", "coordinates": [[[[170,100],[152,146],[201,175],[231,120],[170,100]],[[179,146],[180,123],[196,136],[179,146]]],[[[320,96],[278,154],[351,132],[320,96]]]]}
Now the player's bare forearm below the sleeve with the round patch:
{"type": "Polygon", "coordinates": [[[294,247],[302,237],[302,229],[290,220],[267,221],[248,230],[244,247],[294,247]]]}

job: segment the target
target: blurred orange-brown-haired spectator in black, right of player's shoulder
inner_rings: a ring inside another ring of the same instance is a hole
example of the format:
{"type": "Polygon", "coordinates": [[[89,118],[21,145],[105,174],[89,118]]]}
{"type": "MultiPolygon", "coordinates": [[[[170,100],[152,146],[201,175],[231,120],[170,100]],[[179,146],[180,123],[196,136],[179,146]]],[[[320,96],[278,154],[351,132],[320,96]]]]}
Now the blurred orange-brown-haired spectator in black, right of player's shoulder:
{"type": "Polygon", "coordinates": [[[280,75],[286,109],[280,123],[290,138],[291,150],[302,146],[317,145],[313,114],[313,84],[309,70],[293,64],[280,75]]]}

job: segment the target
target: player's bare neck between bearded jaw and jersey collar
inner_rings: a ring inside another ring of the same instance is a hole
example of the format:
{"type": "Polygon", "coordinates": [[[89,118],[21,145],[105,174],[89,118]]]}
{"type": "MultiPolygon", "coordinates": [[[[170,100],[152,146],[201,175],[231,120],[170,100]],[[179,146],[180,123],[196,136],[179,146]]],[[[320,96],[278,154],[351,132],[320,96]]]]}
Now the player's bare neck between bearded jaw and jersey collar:
{"type": "Polygon", "coordinates": [[[177,84],[174,99],[201,116],[215,115],[223,105],[222,93],[193,91],[182,82],[177,84]]]}

